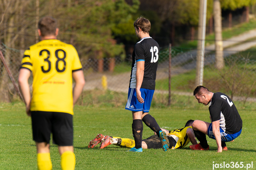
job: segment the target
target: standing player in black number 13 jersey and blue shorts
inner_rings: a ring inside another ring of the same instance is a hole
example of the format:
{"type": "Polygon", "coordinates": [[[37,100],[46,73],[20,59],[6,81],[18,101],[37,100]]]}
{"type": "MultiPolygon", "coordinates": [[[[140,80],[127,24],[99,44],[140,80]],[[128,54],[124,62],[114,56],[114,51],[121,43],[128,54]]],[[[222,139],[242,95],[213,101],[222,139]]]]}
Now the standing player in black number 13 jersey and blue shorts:
{"type": "Polygon", "coordinates": [[[150,21],[139,17],[133,24],[139,42],[134,46],[132,54],[131,79],[128,100],[125,109],[132,111],[132,132],[135,147],[132,152],[142,152],[141,140],[143,123],[160,137],[163,150],[169,148],[166,133],[161,131],[155,118],[148,114],[155,91],[156,70],[158,66],[159,45],[149,36],[150,21]]]}

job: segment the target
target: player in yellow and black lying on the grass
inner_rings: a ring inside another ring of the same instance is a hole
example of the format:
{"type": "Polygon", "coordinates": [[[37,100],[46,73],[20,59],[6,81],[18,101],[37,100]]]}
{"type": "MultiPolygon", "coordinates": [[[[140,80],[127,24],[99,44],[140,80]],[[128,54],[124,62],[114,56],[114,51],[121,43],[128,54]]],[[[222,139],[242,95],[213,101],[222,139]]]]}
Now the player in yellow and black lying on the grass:
{"type": "MultiPolygon", "coordinates": [[[[183,148],[185,147],[190,141],[193,145],[197,144],[195,139],[195,135],[192,129],[192,123],[194,120],[189,120],[185,124],[185,127],[180,129],[174,129],[172,131],[162,129],[166,132],[167,138],[170,143],[171,149],[183,148]]],[[[135,142],[132,139],[128,138],[121,138],[121,137],[112,137],[112,136],[104,136],[102,134],[98,134],[96,138],[90,141],[88,148],[94,148],[96,145],[100,144],[100,148],[103,149],[108,145],[114,144],[120,147],[127,147],[133,148],[135,146],[135,142]]],[[[161,141],[159,137],[156,135],[152,135],[147,139],[142,140],[142,149],[160,149],[162,148],[161,141]]]]}

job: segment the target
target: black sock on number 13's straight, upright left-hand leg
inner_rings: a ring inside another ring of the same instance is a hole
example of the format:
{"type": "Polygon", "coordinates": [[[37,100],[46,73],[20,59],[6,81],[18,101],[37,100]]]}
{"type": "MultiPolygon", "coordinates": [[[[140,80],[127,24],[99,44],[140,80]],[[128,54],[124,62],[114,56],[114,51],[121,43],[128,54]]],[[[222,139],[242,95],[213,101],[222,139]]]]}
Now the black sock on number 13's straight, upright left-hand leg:
{"type": "Polygon", "coordinates": [[[132,134],[135,141],[135,148],[141,148],[143,123],[141,119],[135,119],[132,123],[132,134]]]}

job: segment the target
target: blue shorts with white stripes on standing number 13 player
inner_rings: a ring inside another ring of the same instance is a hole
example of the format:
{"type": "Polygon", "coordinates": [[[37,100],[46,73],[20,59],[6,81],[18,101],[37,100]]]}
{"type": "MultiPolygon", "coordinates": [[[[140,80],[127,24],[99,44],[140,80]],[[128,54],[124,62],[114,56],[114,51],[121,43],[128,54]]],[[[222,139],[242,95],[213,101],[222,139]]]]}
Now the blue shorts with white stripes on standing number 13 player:
{"type": "Polygon", "coordinates": [[[144,103],[140,103],[137,100],[136,89],[129,88],[128,99],[127,99],[125,109],[131,110],[131,111],[143,111],[145,113],[149,112],[151,101],[152,101],[155,90],[141,88],[140,92],[141,92],[141,97],[144,99],[144,103]]]}

